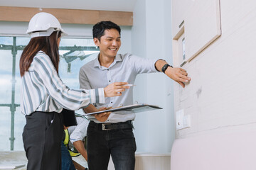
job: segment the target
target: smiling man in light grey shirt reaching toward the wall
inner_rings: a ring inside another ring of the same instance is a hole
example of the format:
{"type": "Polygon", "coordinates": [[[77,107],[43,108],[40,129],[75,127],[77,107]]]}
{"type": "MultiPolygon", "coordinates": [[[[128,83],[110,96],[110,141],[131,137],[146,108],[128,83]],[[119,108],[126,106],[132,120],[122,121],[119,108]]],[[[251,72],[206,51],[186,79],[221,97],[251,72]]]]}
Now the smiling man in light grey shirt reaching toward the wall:
{"type": "MultiPolygon", "coordinates": [[[[121,46],[121,29],[111,21],[102,21],[93,26],[95,45],[100,54],[95,60],[88,62],[80,69],[81,89],[97,89],[113,82],[134,84],[137,74],[164,72],[174,81],[185,86],[188,82],[184,69],[173,68],[164,60],[149,60],[131,54],[117,54],[121,46]]],[[[114,86],[114,84],[113,84],[114,86]]],[[[115,98],[105,98],[105,104],[94,103],[100,107],[118,107],[133,104],[132,88],[120,91],[115,98]]],[[[97,111],[95,106],[84,108],[86,113],[97,111]]],[[[90,170],[107,170],[110,154],[117,170],[132,170],[135,166],[136,143],[132,132],[132,120],[135,114],[102,113],[88,116],[87,154],[90,170]]]]}

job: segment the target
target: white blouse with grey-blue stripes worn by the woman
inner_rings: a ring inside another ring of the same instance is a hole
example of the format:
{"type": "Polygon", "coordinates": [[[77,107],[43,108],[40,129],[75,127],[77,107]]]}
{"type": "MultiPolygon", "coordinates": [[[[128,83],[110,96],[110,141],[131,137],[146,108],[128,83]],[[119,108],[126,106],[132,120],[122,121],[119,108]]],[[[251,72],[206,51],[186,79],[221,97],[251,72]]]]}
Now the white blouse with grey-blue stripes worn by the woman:
{"type": "Polygon", "coordinates": [[[63,84],[50,57],[40,51],[21,77],[21,113],[75,111],[90,103],[105,103],[104,89],[72,90],[63,84]]]}

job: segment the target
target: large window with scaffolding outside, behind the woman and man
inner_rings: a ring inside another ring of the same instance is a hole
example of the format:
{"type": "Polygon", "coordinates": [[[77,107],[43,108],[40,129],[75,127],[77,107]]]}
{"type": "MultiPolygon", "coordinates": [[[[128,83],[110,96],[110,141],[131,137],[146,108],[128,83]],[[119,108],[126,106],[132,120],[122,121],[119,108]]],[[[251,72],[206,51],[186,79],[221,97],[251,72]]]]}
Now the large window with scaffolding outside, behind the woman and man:
{"type": "MultiPolygon", "coordinates": [[[[22,132],[26,119],[19,107],[21,80],[18,64],[29,40],[0,36],[0,151],[23,150],[22,132]]],[[[59,74],[70,89],[79,89],[79,69],[95,59],[98,51],[92,39],[61,39],[59,74]]]]}

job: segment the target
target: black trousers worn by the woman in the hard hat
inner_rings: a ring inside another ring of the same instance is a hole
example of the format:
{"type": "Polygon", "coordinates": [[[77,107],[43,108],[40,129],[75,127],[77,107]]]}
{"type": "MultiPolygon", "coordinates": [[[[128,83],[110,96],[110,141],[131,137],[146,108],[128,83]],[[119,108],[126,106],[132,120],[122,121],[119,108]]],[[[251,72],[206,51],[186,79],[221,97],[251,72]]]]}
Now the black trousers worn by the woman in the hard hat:
{"type": "Polygon", "coordinates": [[[27,170],[61,170],[60,142],[63,118],[60,113],[34,112],[26,115],[23,145],[27,170]]]}

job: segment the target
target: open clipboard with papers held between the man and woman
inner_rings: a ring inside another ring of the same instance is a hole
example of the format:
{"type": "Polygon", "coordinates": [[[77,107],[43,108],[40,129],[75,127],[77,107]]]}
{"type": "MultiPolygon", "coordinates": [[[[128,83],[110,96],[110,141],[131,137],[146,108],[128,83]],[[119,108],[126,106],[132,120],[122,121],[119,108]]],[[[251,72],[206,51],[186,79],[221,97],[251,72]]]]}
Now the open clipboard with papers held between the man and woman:
{"type": "Polygon", "coordinates": [[[139,113],[139,112],[144,112],[144,111],[153,111],[156,109],[163,109],[160,108],[159,106],[154,106],[154,105],[149,105],[149,104],[134,104],[134,105],[129,105],[129,106],[122,106],[118,108],[110,108],[105,111],[97,111],[97,112],[92,112],[92,113],[85,113],[85,115],[93,115],[93,114],[98,114],[98,113],[105,113],[105,112],[112,112],[116,114],[129,114],[129,113],[139,113]]]}

